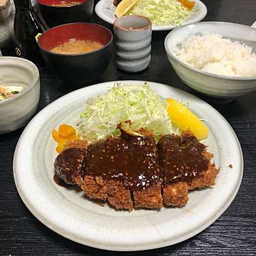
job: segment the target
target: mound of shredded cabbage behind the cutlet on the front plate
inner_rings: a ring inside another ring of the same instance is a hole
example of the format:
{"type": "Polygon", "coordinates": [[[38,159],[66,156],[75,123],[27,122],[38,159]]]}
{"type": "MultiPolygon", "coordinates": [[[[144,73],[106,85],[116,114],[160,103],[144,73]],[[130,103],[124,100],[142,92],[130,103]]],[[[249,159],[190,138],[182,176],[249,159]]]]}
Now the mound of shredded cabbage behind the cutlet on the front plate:
{"type": "Polygon", "coordinates": [[[131,120],[131,130],[150,129],[158,140],[160,135],[177,132],[166,107],[167,102],[158,97],[149,84],[115,84],[106,94],[88,100],[80,114],[77,133],[88,142],[94,142],[111,135],[118,136],[120,131],[116,125],[131,120]]]}

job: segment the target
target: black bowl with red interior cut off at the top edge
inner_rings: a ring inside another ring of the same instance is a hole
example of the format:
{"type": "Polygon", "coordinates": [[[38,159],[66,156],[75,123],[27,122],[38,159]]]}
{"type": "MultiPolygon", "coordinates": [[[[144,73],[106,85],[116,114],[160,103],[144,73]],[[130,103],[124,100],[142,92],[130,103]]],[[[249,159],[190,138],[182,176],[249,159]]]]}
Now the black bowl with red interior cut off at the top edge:
{"type": "Polygon", "coordinates": [[[93,3],[94,0],[38,0],[38,7],[47,25],[54,27],[90,21],[93,3]]]}

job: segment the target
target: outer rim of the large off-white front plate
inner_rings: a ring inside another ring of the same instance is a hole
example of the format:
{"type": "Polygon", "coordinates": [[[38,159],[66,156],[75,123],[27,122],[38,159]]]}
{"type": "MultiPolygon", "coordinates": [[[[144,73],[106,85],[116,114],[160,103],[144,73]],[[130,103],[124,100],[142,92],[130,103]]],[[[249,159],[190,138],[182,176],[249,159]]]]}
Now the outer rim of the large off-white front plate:
{"type": "MultiPolygon", "coordinates": [[[[62,227],[57,227],[55,225],[54,222],[51,222],[51,220],[47,220],[46,218],[44,218],[43,214],[40,212],[40,210],[42,209],[35,209],[33,202],[31,202],[31,198],[29,198],[29,196],[27,196],[27,194],[25,192],[25,190],[27,190],[27,183],[24,184],[21,183],[20,178],[18,177],[18,172],[21,171],[26,171],[26,170],[22,170],[23,166],[19,165],[21,163],[23,163],[23,157],[21,157],[21,151],[20,148],[21,146],[23,146],[26,148],[26,146],[28,146],[27,144],[27,140],[26,137],[29,135],[29,132],[31,131],[31,127],[33,127],[34,125],[36,125],[36,121],[38,120],[38,118],[42,118],[42,116],[44,115],[44,112],[46,112],[47,110],[53,110],[53,108],[55,107],[56,104],[64,102],[68,97],[72,97],[73,94],[77,94],[79,92],[86,92],[86,90],[88,90],[88,88],[93,89],[93,88],[100,88],[101,86],[112,86],[115,82],[120,82],[120,81],[109,81],[109,82],[105,82],[105,83],[101,83],[101,84],[96,84],[94,86],[88,86],[87,88],[81,88],[79,90],[76,90],[74,92],[71,92],[69,94],[64,95],[63,97],[61,97],[60,99],[57,99],[56,101],[53,101],[53,103],[49,104],[47,107],[45,107],[43,110],[41,110],[29,123],[29,125],[27,125],[27,127],[25,128],[25,130],[23,131],[21,138],[18,140],[18,144],[16,146],[16,150],[14,153],[14,163],[13,163],[13,167],[14,167],[14,181],[15,181],[15,185],[16,188],[18,190],[18,194],[20,194],[21,199],[23,200],[23,203],[25,203],[25,205],[27,206],[27,208],[29,209],[29,211],[34,214],[34,216],[36,216],[36,218],[38,218],[38,220],[40,220],[40,222],[42,222],[44,225],[46,225],[47,227],[49,227],[49,229],[55,231],[56,233],[59,233],[60,235],[64,236],[65,238],[68,238],[70,240],[73,240],[75,242],[79,242],[80,244],[85,244],[87,246],[92,246],[94,248],[101,248],[101,249],[105,249],[105,250],[110,250],[110,251],[141,251],[141,250],[146,250],[146,249],[152,249],[152,248],[160,248],[160,247],[164,247],[164,246],[169,246],[172,244],[177,244],[179,242],[182,242],[183,240],[187,240],[188,238],[191,238],[192,236],[196,235],[197,233],[200,233],[201,231],[203,231],[205,228],[209,227],[209,225],[211,225],[216,219],[218,219],[218,217],[220,215],[223,214],[223,212],[225,212],[225,210],[227,209],[227,207],[229,207],[229,205],[231,204],[231,202],[233,201],[233,199],[235,198],[235,195],[238,192],[238,189],[240,188],[240,183],[242,181],[242,173],[243,173],[243,157],[242,157],[242,149],[240,147],[240,143],[238,141],[237,136],[235,135],[235,132],[233,131],[233,129],[231,128],[231,126],[229,125],[229,123],[227,123],[227,120],[225,120],[225,118],[223,118],[215,109],[214,107],[210,106],[209,104],[205,103],[204,101],[202,101],[201,99],[198,99],[197,97],[192,96],[191,94],[189,94],[188,92],[183,92],[182,90],[179,90],[177,88],[172,88],[170,87],[170,90],[174,90],[175,92],[177,92],[177,94],[185,94],[185,95],[189,95],[190,97],[192,97],[192,99],[199,101],[199,103],[203,103],[204,105],[206,105],[207,107],[209,107],[209,109],[211,109],[212,111],[216,112],[216,114],[218,114],[218,116],[220,118],[222,118],[222,120],[224,120],[226,122],[227,127],[229,128],[229,130],[232,133],[233,136],[233,140],[235,141],[235,143],[238,146],[238,162],[240,163],[240,174],[239,177],[235,183],[235,186],[233,188],[233,191],[231,193],[231,196],[229,197],[229,200],[225,201],[224,205],[221,205],[220,209],[218,210],[218,212],[214,213],[214,215],[212,216],[212,218],[209,218],[207,220],[207,222],[204,222],[203,225],[201,225],[200,227],[198,227],[197,229],[195,229],[194,231],[190,231],[190,233],[183,235],[181,238],[178,238],[176,240],[172,240],[170,241],[163,241],[161,243],[157,243],[157,244],[147,244],[146,246],[144,244],[142,244],[142,246],[140,244],[137,244],[136,246],[127,246],[126,248],[124,248],[123,246],[119,246],[118,244],[116,246],[109,246],[108,244],[100,244],[99,241],[91,241],[91,240],[86,240],[86,239],[82,239],[79,238],[78,236],[75,235],[75,233],[66,233],[66,231],[63,231],[62,227]],[[25,145],[26,144],[26,145],[25,145]],[[25,145],[25,146],[24,146],[25,145]]],[[[121,81],[123,84],[142,84],[144,82],[147,82],[153,86],[165,86],[164,84],[158,84],[155,82],[151,82],[151,81],[121,81]]],[[[89,90],[90,90],[89,89],[89,90]]],[[[32,196],[33,197],[33,196],[32,196]]]]}

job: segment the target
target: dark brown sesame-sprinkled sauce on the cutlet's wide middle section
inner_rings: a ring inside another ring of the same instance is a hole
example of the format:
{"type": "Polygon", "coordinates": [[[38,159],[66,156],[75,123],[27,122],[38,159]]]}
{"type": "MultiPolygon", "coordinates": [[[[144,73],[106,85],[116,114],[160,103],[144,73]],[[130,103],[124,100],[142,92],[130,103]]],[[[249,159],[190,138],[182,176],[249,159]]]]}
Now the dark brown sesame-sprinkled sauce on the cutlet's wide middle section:
{"type": "Polygon", "coordinates": [[[122,181],[131,191],[160,182],[154,138],[126,134],[91,144],[86,174],[122,181]]]}

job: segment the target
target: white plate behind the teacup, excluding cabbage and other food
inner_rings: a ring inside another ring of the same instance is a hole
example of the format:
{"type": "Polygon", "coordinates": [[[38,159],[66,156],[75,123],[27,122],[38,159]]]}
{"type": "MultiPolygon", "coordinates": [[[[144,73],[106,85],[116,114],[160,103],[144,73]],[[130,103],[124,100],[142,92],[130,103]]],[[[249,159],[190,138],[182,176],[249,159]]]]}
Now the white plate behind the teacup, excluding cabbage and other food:
{"type": "MultiPolygon", "coordinates": [[[[207,14],[207,8],[205,4],[199,0],[194,0],[196,2],[196,7],[199,9],[196,14],[191,16],[190,18],[185,19],[182,25],[188,25],[192,23],[196,23],[202,21],[207,14]]],[[[116,7],[113,5],[113,0],[101,0],[95,6],[96,14],[106,21],[107,23],[114,24],[114,20],[116,19],[115,16],[116,7]]],[[[176,26],[174,25],[153,25],[153,31],[164,31],[164,30],[171,30],[175,29],[176,26]]]]}

